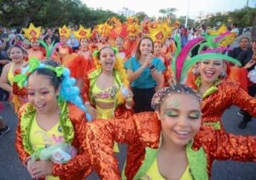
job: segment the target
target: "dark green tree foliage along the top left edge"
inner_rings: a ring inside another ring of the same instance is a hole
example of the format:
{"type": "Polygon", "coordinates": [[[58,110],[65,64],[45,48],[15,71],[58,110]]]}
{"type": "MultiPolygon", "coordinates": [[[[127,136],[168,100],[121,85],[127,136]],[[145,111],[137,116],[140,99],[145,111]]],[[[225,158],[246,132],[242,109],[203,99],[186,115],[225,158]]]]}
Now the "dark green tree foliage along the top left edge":
{"type": "Polygon", "coordinates": [[[91,27],[116,16],[112,11],[88,8],[80,0],[0,0],[0,24],[26,27],[30,22],[44,27],[81,24],[91,27]]]}

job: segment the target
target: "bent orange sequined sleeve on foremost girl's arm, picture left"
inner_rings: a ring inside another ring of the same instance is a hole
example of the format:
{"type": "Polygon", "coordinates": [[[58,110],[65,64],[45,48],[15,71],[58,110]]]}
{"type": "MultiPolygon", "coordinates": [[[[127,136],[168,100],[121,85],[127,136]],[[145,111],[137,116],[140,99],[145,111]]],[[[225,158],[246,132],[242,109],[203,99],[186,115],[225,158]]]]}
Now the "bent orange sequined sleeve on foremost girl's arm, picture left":
{"type": "Polygon", "coordinates": [[[132,142],[137,138],[135,124],[130,119],[97,120],[87,123],[84,144],[90,146],[91,166],[102,179],[120,179],[113,141],[132,142]]]}

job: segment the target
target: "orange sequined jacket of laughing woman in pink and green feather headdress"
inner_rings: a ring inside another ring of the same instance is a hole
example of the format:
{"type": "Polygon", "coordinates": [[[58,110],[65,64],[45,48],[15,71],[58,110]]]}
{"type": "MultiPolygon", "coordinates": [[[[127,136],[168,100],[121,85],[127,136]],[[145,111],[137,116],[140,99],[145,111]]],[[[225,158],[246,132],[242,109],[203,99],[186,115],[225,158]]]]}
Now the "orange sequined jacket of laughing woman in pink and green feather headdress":
{"type": "MultiPolygon", "coordinates": [[[[200,77],[195,82],[187,82],[187,85],[195,91],[199,90],[200,84],[200,77]]],[[[231,105],[237,105],[251,115],[256,115],[256,98],[248,95],[238,83],[230,80],[214,82],[202,97],[202,123],[212,126],[216,130],[224,130],[221,116],[224,114],[224,110],[229,109],[231,105]]]]}

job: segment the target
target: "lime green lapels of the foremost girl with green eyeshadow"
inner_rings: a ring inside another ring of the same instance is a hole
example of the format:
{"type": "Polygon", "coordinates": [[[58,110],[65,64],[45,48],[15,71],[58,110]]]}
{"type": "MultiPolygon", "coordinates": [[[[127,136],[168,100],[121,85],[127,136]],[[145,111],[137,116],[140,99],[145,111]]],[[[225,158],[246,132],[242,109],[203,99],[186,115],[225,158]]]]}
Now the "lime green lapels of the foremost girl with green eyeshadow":
{"type": "MultiPolygon", "coordinates": [[[[202,147],[197,151],[193,150],[191,148],[192,144],[193,144],[193,140],[191,140],[186,146],[186,154],[187,154],[188,161],[189,161],[191,176],[194,179],[206,179],[207,180],[208,175],[207,175],[206,153],[202,147]]],[[[133,179],[140,179],[141,177],[143,177],[146,174],[146,172],[148,172],[150,166],[152,166],[154,159],[157,156],[159,149],[151,149],[149,147],[147,147],[145,149],[145,160],[143,161],[143,165],[140,167],[136,176],[133,177],[133,179]]],[[[126,161],[125,161],[125,165],[126,165],[126,161]]],[[[122,172],[122,179],[126,179],[125,166],[124,166],[124,169],[122,172]]]]}

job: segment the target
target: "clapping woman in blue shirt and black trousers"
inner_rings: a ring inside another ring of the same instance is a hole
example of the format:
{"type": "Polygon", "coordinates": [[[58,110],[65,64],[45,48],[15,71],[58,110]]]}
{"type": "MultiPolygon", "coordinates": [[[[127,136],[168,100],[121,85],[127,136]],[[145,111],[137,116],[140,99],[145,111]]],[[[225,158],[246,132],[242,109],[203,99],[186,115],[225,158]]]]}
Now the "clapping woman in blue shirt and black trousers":
{"type": "Polygon", "coordinates": [[[153,41],[150,37],[143,37],[137,46],[134,57],[125,61],[128,79],[131,83],[135,112],[154,111],[151,108],[151,98],[156,85],[163,87],[166,70],[165,65],[158,58],[153,58],[153,41]]]}

